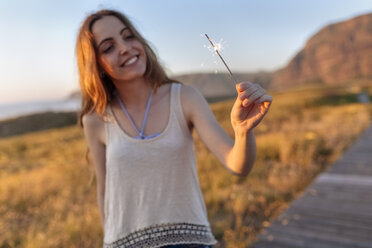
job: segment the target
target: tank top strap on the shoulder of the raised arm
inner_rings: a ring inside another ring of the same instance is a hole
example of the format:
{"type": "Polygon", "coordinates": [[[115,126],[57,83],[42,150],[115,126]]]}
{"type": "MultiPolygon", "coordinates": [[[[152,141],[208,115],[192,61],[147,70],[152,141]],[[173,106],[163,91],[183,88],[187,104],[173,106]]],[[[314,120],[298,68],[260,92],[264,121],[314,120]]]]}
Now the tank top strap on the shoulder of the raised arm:
{"type": "Polygon", "coordinates": [[[173,111],[174,111],[175,117],[182,131],[185,132],[186,134],[190,134],[187,121],[183,113],[182,100],[181,100],[181,89],[182,89],[182,84],[180,83],[172,84],[171,104],[173,105],[173,111]]]}

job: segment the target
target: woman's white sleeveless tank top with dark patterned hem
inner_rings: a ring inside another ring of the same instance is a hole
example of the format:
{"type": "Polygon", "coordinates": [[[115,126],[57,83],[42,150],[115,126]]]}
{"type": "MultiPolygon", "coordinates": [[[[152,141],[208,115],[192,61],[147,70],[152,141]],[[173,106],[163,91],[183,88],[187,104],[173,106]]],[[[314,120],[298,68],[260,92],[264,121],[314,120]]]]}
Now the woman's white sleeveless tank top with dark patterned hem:
{"type": "MultiPolygon", "coordinates": [[[[108,105],[103,247],[217,243],[200,190],[181,84],[171,85],[166,128],[139,140],[118,125],[108,105]]],[[[149,125],[151,125],[149,123],[149,125]]]]}

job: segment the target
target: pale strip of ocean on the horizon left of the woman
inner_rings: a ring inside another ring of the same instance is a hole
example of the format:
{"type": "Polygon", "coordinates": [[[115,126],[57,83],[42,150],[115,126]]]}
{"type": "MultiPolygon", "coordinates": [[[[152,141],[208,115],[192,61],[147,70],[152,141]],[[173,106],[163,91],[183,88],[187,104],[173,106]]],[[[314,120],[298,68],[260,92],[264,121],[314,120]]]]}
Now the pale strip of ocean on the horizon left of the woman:
{"type": "Polygon", "coordinates": [[[0,104],[0,120],[20,117],[43,112],[78,111],[81,107],[80,99],[63,99],[49,101],[32,101],[0,104]]]}

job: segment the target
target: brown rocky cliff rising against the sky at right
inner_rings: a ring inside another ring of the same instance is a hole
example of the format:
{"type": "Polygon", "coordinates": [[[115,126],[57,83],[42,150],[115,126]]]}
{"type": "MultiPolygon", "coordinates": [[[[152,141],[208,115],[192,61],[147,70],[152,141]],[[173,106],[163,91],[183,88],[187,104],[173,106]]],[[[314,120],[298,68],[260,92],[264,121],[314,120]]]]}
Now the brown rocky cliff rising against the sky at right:
{"type": "Polygon", "coordinates": [[[306,83],[372,81],[372,14],[334,23],[312,36],[288,65],[277,71],[273,89],[306,83]]]}

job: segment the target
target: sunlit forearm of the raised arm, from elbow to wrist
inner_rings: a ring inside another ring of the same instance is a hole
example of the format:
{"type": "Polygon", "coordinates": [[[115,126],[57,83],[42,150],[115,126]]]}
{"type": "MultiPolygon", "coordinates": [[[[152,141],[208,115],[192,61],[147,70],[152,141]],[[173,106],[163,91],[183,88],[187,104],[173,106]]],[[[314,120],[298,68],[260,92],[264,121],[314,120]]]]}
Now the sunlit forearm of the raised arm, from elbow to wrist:
{"type": "Polygon", "coordinates": [[[256,139],[253,129],[249,132],[235,132],[235,142],[227,156],[227,166],[234,173],[247,176],[256,160],[256,139]]]}

